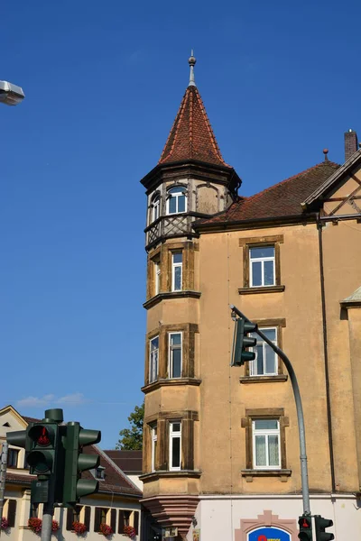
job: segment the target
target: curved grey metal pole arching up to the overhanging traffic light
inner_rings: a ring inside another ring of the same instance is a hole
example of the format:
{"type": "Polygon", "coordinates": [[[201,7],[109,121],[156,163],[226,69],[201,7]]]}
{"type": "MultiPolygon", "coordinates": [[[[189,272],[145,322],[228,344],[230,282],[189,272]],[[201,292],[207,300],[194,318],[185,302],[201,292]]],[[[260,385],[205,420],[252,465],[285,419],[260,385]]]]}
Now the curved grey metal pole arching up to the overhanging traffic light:
{"type": "MultiPolygon", "coordinates": [[[[234,305],[230,305],[230,308],[235,314],[239,317],[243,317],[245,321],[250,321],[248,317],[245,316],[245,314],[242,314],[236,308],[234,305]]],[[[290,359],[287,357],[286,353],[282,352],[282,349],[274,345],[267,336],[264,335],[262,331],[257,329],[255,331],[257,335],[261,336],[261,338],[266,342],[270,347],[272,347],[273,352],[277,353],[282,361],[284,362],[288,373],[290,374],[290,380],[292,382],[292,389],[293,389],[293,395],[294,400],[296,402],[296,409],[297,409],[297,419],[299,424],[299,437],[300,437],[300,460],[301,460],[301,485],[302,485],[302,500],[303,500],[303,514],[304,515],[310,515],[310,491],[309,491],[309,474],[307,470],[307,454],[306,454],[306,433],[305,433],[305,426],[304,426],[304,418],[303,418],[303,408],[302,408],[302,400],[301,400],[301,394],[300,394],[300,388],[299,384],[296,378],[296,374],[293,370],[292,364],[290,359]]]]}

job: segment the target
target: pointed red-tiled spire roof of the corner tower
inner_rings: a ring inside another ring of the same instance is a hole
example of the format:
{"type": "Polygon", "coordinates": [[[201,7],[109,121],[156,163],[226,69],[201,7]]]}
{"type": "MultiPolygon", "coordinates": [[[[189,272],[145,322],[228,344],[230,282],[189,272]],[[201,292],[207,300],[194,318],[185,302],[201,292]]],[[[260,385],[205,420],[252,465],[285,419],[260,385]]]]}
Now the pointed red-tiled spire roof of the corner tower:
{"type": "Polygon", "coordinates": [[[159,163],[199,160],[229,167],[219,151],[199,91],[189,86],[171,127],[159,163]]]}

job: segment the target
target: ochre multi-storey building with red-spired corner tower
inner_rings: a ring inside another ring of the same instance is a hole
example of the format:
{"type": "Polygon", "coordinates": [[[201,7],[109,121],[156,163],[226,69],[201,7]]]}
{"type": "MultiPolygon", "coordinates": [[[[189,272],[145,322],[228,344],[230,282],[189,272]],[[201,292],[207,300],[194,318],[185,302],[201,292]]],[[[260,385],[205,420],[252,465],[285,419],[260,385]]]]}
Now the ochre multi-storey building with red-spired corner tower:
{"type": "Polygon", "coordinates": [[[292,386],[258,340],[230,367],[239,307],[288,354],[303,399],[312,514],[361,528],[361,151],[242,197],[194,80],[147,197],[144,539],[296,541],[292,386]],[[268,537],[267,537],[268,536],[268,537]],[[271,537],[270,537],[271,536],[271,537]]]}

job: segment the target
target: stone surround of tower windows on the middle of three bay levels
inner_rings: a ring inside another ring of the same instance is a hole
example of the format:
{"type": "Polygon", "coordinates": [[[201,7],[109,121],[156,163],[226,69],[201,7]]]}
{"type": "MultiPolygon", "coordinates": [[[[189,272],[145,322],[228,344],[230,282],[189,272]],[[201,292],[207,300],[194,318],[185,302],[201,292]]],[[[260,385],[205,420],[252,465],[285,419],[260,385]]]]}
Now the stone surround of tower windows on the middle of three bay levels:
{"type": "Polygon", "coordinates": [[[174,381],[182,382],[184,379],[194,379],[195,377],[195,335],[199,333],[199,326],[195,323],[183,323],[172,325],[161,325],[156,329],[153,329],[147,335],[146,348],[145,348],[145,381],[143,390],[147,390],[148,386],[154,386],[154,383],[162,385],[162,381],[174,381]],[[169,379],[169,333],[180,332],[182,333],[182,366],[181,377],[169,379]],[[151,340],[159,336],[159,355],[158,355],[158,379],[156,381],[149,381],[149,353],[151,340]]]}

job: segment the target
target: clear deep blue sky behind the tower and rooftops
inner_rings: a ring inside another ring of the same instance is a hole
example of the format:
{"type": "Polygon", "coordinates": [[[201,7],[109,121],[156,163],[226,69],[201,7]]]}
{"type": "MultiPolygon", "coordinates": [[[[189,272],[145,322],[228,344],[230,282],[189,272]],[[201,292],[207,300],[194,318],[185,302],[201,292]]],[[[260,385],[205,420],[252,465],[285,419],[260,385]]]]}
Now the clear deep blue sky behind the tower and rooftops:
{"type": "MultiPolygon", "coordinates": [[[[143,395],[145,197],[188,84],[251,195],[360,128],[360,3],[19,0],[1,8],[1,401],[116,445],[143,395]]],[[[361,135],[361,133],[360,133],[361,135]]]]}

